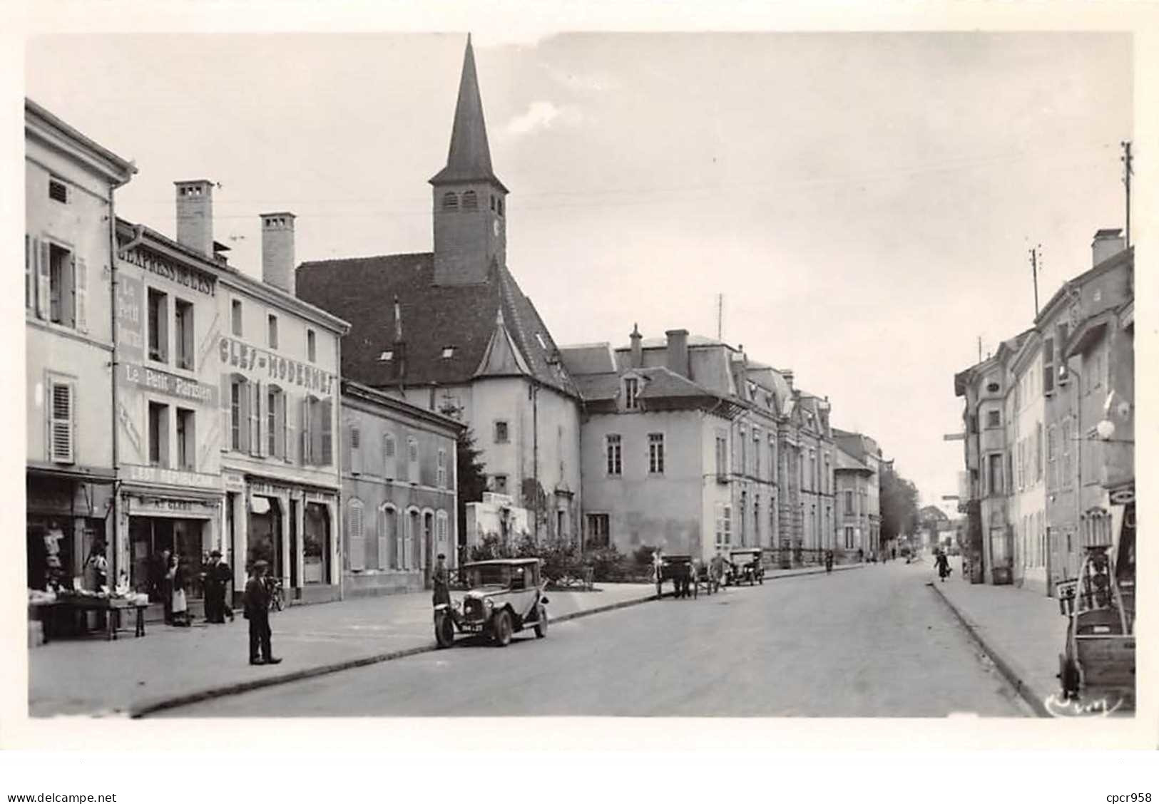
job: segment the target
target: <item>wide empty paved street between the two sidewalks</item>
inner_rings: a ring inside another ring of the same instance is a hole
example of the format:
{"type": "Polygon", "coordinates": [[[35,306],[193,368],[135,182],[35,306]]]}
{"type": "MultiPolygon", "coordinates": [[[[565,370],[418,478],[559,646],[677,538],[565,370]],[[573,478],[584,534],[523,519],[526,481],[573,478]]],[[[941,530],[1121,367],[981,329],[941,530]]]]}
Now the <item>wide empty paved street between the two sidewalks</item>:
{"type": "Polygon", "coordinates": [[[663,600],[167,715],[1028,715],[932,577],[896,562],[663,600]]]}

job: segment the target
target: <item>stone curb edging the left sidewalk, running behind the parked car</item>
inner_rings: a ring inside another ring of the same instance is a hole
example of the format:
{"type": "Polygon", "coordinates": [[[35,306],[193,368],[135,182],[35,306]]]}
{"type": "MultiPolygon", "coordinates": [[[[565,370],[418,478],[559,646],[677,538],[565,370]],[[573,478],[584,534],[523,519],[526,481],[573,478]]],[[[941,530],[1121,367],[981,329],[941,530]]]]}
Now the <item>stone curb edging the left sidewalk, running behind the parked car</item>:
{"type": "MultiPolygon", "coordinates": [[[[861,569],[863,564],[846,564],[844,567],[834,567],[833,571],[838,570],[855,570],[861,569]]],[[[817,575],[824,572],[824,568],[818,568],[816,570],[809,570],[806,572],[793,572],[790,575],[774,575],[768,576],[766,580],[777,580],[779,578],[797,578],[804,575],[817,575]]],[[[628,608],[630,606],[639,606],[640,604],[650,602],[653,600],[658,600],[663,597],[671,595],[671,592],[665,592],[659,597],[655,594],[649,594],[646,598],[634,598],[632,600],[621,600],[614,604],[606,604],[604,606],[596,606],[595,608],[584,609],[582,612],[573,612],[570,614],[564,614],[559,617],[552,617],[548,620],[549,623],[554,622],[567,622],[568,620],[578,620],[580,617],[591,616],[592,614],[604,614],[606,612],[612,612],[619,608],[628,608]]],[[[173,695],[161,699],[153,699],[152,701],[143,701],[141,703],[133,704],[129,708],[129,717],[137,719],[145,717],[147,715],[153,715],[159,711],[165,711],[166,709],[176,709],[178,707],[187,707],[191,703],[201,703],[202,701],[210,701],[217,697],[227,697],[229,695],[240,695],[241,693],[253,692],[255,689],[263,689],[265,687],[276,687],[283,684],[291,684],[293,681],[302,681],[305,679],[315,678],[319,675],[329,675],[330,673],[338,673],[343,670],[353,670],[355,667],[365,667],[372,664],[379,664],[382,662],[393,662],[394,659],[403,659],[408,656],[418,656],[420,653],[430,653],[439,650],[438,645],[431,643],[427,645],[416,645],[414,648],[401,648],[399,650],[388,651],[386,653],[373,653],[371,656],[363,656],[357,659],[347,659],[344,662],[335,662],[328,665],[319,665],[316,667],[304,667],[302,670],[296,670],[289,673],[282,673],[280,675],[267,675],[260,679],[249,679],[247,681],[238,681],[235,684],[229,684],[219,687],[206,687],[204,689],[194,690],[191,693],[183,693],[181,695],[173,695]]]]}

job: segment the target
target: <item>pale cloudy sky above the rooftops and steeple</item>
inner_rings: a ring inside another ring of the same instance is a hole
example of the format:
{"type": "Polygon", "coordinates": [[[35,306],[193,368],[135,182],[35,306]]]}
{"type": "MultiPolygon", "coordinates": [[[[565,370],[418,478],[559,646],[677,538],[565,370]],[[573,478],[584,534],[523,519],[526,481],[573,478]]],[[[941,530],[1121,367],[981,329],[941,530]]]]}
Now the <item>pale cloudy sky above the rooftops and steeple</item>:
{"type": "MultiPolygon", "coordinates": [[[[28,41],[27,94],[139,168],[117,213],[173,235],[210,178],[214,236],[260,275],[431,248],[465,37],[28,41]],[[76,75],[87,80],[78,81],[76,75]]],[[[686,328],[792,368],[923,503],[957,490],[954,374],[1123,226],[1127,34],[559,34],[476,38],[508,265],[560,344],[686,328]]]]}

